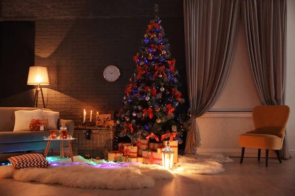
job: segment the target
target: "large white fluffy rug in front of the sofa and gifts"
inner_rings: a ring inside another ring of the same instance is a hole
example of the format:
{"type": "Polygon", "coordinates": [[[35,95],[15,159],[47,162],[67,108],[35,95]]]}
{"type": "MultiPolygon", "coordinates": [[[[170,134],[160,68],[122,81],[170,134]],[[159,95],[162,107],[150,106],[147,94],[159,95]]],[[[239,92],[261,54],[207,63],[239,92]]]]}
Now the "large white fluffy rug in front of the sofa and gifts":
{"type": "MultiPolygon", "coordinates": [[[[74,160],[81,159],[74,157],[74,160]]],[[[83,158],[82,158],[83,159],[83,158]]],[[[83,160],[81,160],[83,161],[83,160]]],[[[172,179],[174,173],[158,165],[140,163],[117,164],[113,167],[74,163],[49,166],[48,168],[26,168],[16,170],[12,165],[0,167],[0,178],[14,178],[22,182],[60,184],[88,189],[139,189],[151,188],[155,179],[172,179]]],[[[86,164],[85,164],[86,163],[86,164]]]]}

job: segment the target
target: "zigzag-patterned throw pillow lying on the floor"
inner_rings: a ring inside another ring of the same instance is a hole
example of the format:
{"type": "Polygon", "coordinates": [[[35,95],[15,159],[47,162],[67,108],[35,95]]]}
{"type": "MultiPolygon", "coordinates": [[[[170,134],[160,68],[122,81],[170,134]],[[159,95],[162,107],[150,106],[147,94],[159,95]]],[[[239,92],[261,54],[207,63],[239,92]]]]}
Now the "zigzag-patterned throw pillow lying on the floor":
{"type": "Polygon", "coordinates": [[[20,156],[12,156],[8,159],[8,161],[15,169],[47,168],[50,166],[42,154],[24,154],[20,156]]]}

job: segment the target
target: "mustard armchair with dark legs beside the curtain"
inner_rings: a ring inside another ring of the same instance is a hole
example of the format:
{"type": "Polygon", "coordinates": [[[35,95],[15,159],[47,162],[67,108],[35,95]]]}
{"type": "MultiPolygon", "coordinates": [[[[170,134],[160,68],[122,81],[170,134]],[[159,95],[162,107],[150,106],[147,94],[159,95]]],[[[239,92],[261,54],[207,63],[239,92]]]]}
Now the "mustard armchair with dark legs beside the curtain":
{"type": "Polygon", "coordinates": [[[282,163],[279,150],[283,147],[289,114],[290,108],[287,105],[260,105],[253,109],[255,130],[238,137],[239,146],[242,147],[240,164],[243,163],[245,147],[258,148],[258,161],[260,161],[261,149],[265,149],[266,167],[268,150],[275,150],[279,162],[282,163]]]}

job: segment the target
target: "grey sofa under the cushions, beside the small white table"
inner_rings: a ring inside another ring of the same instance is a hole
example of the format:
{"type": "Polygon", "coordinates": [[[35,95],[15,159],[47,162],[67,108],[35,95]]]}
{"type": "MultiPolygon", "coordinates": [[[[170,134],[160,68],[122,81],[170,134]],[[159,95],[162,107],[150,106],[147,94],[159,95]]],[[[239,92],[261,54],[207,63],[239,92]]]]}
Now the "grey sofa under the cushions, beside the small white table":
{"type": "MultiPolygon", "coordinates": [[[[13,131],[15,123],[14,112],[18,110],[49,110],[47,108],[33,107],[0,107],[0,153],[16,152],[27,150],[46,149],[47,141],[43,137],[49,136],[49,131],[13,131]]],[[[65,124],[68,128],[68,134],[73,135],[74,122],[72,120],[58,120],[58,128],[61,124],[65,124]]],[[[29,125],[28,125],[29,126],[29,125]]],[[[67,143],[64,142],[66,147],[67,143]]],[[[59,148],[59,141],[52,141],[50,148],[59,148]]]]}

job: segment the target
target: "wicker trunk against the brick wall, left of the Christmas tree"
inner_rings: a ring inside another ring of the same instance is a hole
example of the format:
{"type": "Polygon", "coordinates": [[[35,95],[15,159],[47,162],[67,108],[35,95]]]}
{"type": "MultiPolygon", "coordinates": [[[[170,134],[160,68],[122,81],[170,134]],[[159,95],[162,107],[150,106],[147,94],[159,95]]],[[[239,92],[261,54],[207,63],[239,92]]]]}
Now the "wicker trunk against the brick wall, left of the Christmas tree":
{"type": "Polygon", "coordinates": [[[72,149],[74,155],[104,157],[114,150],[115,130],[111,127],[74,129],[72,149]]]}

